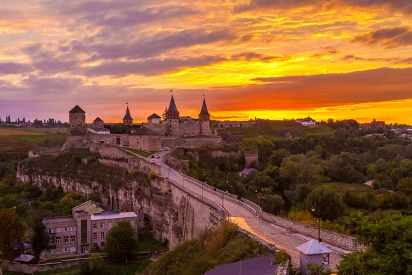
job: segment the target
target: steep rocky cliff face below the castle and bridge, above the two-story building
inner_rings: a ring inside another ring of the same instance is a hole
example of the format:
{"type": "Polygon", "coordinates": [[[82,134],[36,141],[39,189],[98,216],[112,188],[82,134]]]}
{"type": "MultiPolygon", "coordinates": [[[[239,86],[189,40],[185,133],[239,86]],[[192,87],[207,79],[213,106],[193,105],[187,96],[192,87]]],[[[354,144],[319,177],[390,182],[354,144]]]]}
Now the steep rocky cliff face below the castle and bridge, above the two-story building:
{"type": "Polygon", "coordinates": [[[21,181],[36,184],[41,190],[52,184],[62,186],[65,192],[77,190],[84,195],[99,192],[102,201],[113,210],[136,212],[140,228],[151,226],[157,239],[168,239],[170,248],[184,239],[198,236],[206,228],[220,226],[221,217],[213,207],[187,195],[170,184],[168,179],[156,177],[149,180],[144,173],[133,177],[126,170],[99,162],[79,164],[75,172],[71,163],[64,168],[57,168],[49,165],[49,162],[44,156],[26,159],[19,164],[17,177],[21,181]],[[38,163],[37,159],[43,159],[43,162],[38,163]],[[93,168],[93,165],[98,165],[98,169],[93,168]],[[69,168],[70,173],[67,173],[65,169],[69,168]],[[118,173],[113,173],[113,169],[118,173]],[[93,177],[96,170],[102,175],[93,177]],[[108,180],[103,180],[106,171],[108,180]]]}

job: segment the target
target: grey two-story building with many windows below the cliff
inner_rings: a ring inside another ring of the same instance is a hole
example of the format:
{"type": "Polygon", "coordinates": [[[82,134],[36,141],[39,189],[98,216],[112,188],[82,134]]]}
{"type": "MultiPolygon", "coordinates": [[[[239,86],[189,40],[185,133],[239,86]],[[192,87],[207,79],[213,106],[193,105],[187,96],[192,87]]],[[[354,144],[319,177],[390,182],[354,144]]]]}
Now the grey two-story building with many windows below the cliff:
{"type": "Polygon", "coordinates": [[[87,201],[73,208],[72,216],[43,219],[49,234],[47,258],[89,254],[102,250],[108,231],[122,220],[137,228],[135,212],[113,212],[102,203],[87,201]]]}

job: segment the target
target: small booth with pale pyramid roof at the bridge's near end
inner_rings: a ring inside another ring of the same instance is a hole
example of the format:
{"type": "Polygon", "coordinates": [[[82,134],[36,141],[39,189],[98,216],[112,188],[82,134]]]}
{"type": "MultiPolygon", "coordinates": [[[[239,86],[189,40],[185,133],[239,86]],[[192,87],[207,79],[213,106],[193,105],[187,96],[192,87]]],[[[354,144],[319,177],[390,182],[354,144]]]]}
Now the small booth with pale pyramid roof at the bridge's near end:
{"type": "Polygon", "coordinates": [[[309,274],[308,270],[306,270],[306,264],[309,262],[324,265],[326,269],[329,268],[329,254],[332,253],[332,250],[326,248],[317,241],[308,241],[303,245],[299,245],[295,249],[299,251],[300,268],[302,274],[309,274]]]}

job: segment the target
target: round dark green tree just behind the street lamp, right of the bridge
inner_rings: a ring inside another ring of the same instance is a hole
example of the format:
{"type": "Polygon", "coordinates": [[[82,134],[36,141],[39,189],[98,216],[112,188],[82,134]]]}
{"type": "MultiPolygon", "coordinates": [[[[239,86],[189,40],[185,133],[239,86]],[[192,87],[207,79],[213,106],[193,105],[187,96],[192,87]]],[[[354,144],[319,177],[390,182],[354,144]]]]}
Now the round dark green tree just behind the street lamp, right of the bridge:
{"type": "Polygon", "coordinates": [[[306,198],[306,208],[311,210],[314,206],[314,217],[334,220],[341,217],[345,206],[341,197],[336,195],[336,191],[332,188],[319,186],[312,190],[306,198]]]}

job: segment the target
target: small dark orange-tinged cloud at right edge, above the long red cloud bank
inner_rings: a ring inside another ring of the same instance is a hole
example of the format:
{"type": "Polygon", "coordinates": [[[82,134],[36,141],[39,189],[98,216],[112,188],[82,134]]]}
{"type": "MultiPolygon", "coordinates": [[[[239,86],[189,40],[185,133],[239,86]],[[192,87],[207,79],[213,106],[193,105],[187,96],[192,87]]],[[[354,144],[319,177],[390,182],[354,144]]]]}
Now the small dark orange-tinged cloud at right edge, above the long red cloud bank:
{"type": "Polygon", "coordinates": [[[412,30],[406,27],[385,28],[355,36],[352,43],[379,44],[385,48],[412,45],[412,30]]]}

